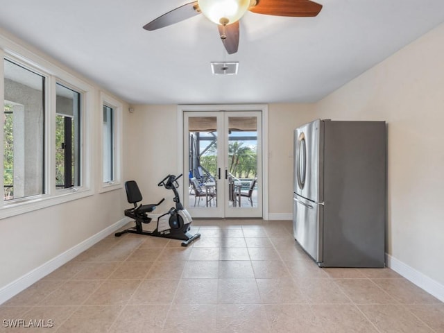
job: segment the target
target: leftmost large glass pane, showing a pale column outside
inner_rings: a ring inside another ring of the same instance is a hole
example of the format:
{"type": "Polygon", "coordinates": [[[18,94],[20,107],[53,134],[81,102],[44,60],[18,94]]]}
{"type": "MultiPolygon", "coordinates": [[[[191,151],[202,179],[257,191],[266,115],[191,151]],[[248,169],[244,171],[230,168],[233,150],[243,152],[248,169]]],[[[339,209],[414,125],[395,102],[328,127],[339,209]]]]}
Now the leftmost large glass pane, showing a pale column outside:
{"type": "Polygon", "coordinates": [[[4,200],[44,193],[44,77],[5,59],[4,200]]]}

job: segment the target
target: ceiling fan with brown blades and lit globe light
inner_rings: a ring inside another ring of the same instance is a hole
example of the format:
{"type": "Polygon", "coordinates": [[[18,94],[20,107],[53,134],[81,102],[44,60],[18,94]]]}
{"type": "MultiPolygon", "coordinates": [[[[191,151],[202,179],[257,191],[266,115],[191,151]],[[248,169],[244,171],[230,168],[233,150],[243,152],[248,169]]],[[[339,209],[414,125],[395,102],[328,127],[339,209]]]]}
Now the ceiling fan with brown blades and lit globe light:
{"type": "Polygon", "coordinates": [[[218,25],[223,45],[232,54],[239,46],[239,19],[247,10],[264,15],[314,17],[321,9],[322,5],[310,0],[198,0],[157,17],[144,29],[157,30],[202,13],[218,25]]]}

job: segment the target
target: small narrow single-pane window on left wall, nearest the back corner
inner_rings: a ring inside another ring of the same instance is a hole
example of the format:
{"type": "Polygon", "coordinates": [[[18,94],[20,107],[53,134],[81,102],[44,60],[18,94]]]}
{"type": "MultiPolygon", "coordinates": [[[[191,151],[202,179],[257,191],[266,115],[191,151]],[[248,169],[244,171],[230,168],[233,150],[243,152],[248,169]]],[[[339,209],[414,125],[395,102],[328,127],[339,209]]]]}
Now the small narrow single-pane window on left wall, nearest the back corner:
{"type": "Polygon", "coordinates": [[[121,117],[123,105],[101,94],[102,175],[101,191],[121,188],[121,117]]]}

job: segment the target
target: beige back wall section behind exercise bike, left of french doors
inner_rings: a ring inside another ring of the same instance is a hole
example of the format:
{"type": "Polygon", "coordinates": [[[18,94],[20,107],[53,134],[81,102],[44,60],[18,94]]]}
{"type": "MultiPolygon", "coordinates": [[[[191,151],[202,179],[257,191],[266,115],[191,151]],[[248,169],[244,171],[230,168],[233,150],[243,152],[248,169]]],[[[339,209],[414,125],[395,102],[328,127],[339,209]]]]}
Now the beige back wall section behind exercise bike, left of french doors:
{"type": "MultiPolygon", "coordinates": [[[[157,187],[170,173],[180,173],[178,167],[177,105],[132,105],[123,133],[124,180],[136,180],[144,203],[157,203],[162,198],[173,198],[172,191],[157,187]],[[170,193],[171,192],[171,193],[170,193]]],[[[172,207],[165,200],[159,212],[172,207]]]]}

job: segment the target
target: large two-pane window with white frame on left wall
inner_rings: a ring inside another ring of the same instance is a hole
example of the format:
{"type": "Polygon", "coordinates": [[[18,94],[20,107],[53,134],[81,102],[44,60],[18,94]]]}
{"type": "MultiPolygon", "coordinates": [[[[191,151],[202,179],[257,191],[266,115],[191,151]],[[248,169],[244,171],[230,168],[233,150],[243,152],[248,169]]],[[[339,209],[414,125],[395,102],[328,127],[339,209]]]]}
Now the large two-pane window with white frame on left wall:
{"type": "Polygon", "coordinates": [[[94,193],[94,87],[17,49],[0,49],[0,219],[94,193]]]}

